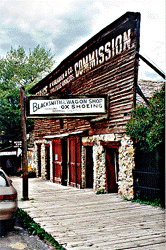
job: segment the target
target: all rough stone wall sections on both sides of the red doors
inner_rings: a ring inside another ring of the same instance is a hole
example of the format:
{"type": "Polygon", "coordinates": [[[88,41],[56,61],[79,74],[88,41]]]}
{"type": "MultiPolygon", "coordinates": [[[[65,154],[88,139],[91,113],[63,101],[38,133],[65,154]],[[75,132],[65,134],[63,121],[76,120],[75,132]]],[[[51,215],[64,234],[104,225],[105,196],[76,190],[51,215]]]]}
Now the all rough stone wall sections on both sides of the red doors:
{"type": "MultiPolygon", "coordinates": [[[[119,146],[119,173],[118,173],[118,193],[120,196],[127,199],[133,198],[133,174],[132,170],[135,167],[134,161],[134,147],[133,142],[126,134],[102,134],[93,135],[88,137],[82,137],[82,142],[93,142],[93,190],[106,192],[106,165],[105,165],[105,149],[100,142],[120,142],[119,146]]],[[[37,150],[38,145],[41,148],[41,177],[46,179],[46,159],[45,159],[45,144],[48,144],[46,140],[35,141],[33,150],[33,168],[36,169],[36,175],[38,173],[38,159],[37,150]]],[[[51,147],[51,142],[50,142],[51,147]]],[[[52,152],[52,148],[50,150],[52,152]]],[[[50,162],[51,169],[53,168],[52,160],[50,162]]],[[[52,171],[51,171],[52,173],[52,171]]],[[[50,177],[53,180],[53,177],[50,177]]],[[[85,188],[85,147],[82,146],[81,152],[81,188],[85,188]]]]}

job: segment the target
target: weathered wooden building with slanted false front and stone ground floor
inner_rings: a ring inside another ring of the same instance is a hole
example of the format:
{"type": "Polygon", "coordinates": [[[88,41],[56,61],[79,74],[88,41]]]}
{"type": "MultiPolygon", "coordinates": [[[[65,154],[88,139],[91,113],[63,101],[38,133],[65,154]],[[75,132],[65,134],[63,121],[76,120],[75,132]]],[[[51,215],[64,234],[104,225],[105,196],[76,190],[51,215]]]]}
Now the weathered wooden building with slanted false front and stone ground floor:
{"type": "Polygon", "coordinates": [[[137,103],[139,41],[140,13],[127,12],[30,90],[39,99],[44,96],[31,115],[37,176],[133,198],[134,146],[125,128],[137,103]],[[102,95],[106,112],[91,116],[102,95]],[[60,113],[55,100],[61,100],[60,113]],[[70,113],[67,100],[73,104],[70,113]],[[88,109],[88,115],[78,115],[77,109],[88,109]]]}

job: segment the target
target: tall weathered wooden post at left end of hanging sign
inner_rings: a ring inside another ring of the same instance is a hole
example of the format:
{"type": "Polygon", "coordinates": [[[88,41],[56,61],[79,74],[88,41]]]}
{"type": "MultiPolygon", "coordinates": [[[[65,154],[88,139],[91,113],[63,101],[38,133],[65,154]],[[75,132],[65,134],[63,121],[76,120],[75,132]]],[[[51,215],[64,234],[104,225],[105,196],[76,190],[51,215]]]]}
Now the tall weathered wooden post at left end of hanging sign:
{"type": "Polygon", "coordinates": [[[28,162],[27,162],[27,135],[25,120],[25,89],[20,88],[21,131],[22,131],[22,168],[23,168],[23,198],[28,200],[28,162]]]}

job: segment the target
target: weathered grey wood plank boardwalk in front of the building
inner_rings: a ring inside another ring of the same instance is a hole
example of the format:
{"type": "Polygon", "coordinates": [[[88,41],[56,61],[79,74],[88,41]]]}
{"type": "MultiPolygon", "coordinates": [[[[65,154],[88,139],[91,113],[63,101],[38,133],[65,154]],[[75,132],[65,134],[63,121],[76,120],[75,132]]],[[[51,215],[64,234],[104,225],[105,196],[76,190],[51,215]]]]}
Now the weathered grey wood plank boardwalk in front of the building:
{"type": "Polygon", "coordinates": [[[164,249],[165,211],[160,208],[36,178],[29,180],[33,202],[21,202],[21,181],[13,178],[19,207],[67,250],[164,249]]]}

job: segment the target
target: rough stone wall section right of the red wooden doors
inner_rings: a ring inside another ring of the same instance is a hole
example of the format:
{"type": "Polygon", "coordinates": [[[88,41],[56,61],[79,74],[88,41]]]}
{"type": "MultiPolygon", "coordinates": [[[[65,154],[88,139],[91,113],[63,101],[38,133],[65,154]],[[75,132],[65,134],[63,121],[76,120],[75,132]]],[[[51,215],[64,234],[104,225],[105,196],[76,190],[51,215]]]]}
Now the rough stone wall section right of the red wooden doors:
{"type": "MultiPolygon", "coordinates": [[[[101,141],[119,141],[119,174],[118,174],[118,193],[127,199],[133,198],[133,175],[132,169],[135,167],[133,142],[125,134],[103,134],[90,137],[83,137],[83,142],[94,142],[93,146],[93,189],[106,191],[106,166],[105,150],[101,141]]],[[[82,150],[82,159],[84,147],[82,150]]],[[[82,187],[85,186],[85,159],[82,161],[82,187]]]]}

